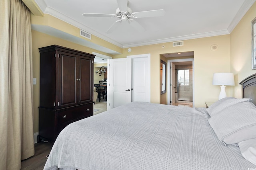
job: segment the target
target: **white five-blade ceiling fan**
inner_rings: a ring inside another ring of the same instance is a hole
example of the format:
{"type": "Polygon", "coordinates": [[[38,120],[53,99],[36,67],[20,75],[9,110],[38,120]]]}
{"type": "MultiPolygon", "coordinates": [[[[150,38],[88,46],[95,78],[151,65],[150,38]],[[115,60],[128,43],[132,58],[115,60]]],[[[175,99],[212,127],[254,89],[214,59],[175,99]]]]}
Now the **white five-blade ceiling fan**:
{"type": "Polygon", "coordinates": [[[135,18],[146,18],[146,17],[158,17],[164,16],[165,11],[162,10],[151,10],[151,11],[142,11],[142,12],[132,12],[132,9],[128,7],[128,0],[117,0],[118,8],[116,9],[116,14],[94,14],[94,13],[84,13],[85,17],[111,17],[111,18],[120,18],[110,26],[106,33],[112,33],[120,23],[127,21],[132,27],[138,31],[145,31],[145,28],[142,27],[135,18]]]}

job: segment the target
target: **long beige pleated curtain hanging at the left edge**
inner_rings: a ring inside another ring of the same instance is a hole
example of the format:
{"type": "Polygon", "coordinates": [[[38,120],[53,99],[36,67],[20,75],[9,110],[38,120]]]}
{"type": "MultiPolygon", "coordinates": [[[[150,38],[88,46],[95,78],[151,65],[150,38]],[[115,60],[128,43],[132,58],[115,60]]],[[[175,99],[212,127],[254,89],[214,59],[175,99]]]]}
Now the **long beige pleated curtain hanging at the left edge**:
{"type": "Polygon", "coordinates": [[[19,170],[34,155],[30,12],[0,0],[0,170],[19,170]]]}

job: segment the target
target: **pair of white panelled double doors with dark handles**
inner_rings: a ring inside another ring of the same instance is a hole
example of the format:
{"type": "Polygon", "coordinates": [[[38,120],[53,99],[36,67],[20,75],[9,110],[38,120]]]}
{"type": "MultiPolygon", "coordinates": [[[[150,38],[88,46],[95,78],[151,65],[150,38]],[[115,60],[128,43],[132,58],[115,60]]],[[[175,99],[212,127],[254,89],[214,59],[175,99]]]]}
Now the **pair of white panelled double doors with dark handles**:
{"type": "Polygon", "coordinates": [[[150,54],[109,60],[108,109],[150,102],[150,54]]]}

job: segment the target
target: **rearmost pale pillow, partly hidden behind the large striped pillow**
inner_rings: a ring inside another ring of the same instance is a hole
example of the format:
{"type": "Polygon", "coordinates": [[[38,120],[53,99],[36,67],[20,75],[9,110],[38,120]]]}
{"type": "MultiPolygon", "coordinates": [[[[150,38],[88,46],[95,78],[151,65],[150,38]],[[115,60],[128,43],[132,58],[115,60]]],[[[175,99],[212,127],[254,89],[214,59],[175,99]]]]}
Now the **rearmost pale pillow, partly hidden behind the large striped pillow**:
{"type": "Polygon", "coordinates": [[[212,115],[215,115],[216,113],[219,113],[226,107],[232,106],[234,104],[238,104],[241,102],[250,102],[251,99],[247,98],[242,98],[242,99],[237,99],[237,98],[223,98],[212,104],[210,107],[208,107],[206,110],[208,111],[209,115],[212,117],[212,115]]]}

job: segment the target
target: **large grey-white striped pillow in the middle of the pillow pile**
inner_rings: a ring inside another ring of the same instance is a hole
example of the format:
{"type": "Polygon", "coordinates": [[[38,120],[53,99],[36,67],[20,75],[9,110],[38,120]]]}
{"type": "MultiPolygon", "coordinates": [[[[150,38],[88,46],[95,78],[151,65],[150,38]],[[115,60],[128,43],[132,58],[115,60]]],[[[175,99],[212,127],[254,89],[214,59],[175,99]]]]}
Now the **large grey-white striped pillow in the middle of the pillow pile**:
{"type": "Polygon", "coordinates": [[[256,106],[251,102],[229,106],[213,115],[208,122],[225,144],[256,138],[256,106]]]}

